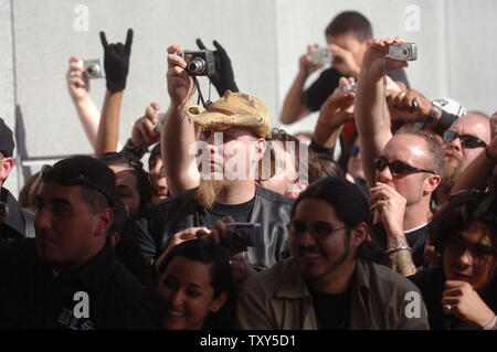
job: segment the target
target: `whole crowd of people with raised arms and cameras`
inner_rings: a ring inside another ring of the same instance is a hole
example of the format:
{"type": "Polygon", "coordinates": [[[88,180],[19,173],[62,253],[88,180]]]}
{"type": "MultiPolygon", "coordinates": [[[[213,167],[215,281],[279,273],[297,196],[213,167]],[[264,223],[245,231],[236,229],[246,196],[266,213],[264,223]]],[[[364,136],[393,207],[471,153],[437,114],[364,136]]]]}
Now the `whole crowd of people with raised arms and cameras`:
{"type": "Polygon", "coordinates": [[[497,113],[411,88],[389,55],[404,40],[373,39],[361,13],[325,35],[331,63],[307,47],[279,116],[319,111],[310,134],[272,128],[214,41],[220,98],[170,45],[169,106],[120,146],[133,30],[101,33],[102,111],[70,58],[95,156],[44,166],[19,202],[0,118],[0,329],[496,330],[497,113]]]}

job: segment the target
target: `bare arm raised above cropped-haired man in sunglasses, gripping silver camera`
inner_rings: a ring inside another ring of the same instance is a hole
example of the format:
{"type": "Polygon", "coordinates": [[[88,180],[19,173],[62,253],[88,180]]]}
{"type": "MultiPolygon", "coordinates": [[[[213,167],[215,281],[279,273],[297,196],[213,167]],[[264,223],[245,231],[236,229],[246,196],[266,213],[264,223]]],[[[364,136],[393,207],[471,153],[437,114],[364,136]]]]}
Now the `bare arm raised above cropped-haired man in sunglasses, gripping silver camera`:
{"type": "Polygon", "coordinates": [[[406,62],[391,61],[388,57],[389,46],[402,42],[403,40],[398,38],[374,40],[362,58],[355,100],[355,118],[361,143],[362,169],[369,188],[374,185],[372,160],[380,156],[383,147],[392,138],[390,113],[387,105],[382,104],[383,73],[408,66],[406,62]]]}

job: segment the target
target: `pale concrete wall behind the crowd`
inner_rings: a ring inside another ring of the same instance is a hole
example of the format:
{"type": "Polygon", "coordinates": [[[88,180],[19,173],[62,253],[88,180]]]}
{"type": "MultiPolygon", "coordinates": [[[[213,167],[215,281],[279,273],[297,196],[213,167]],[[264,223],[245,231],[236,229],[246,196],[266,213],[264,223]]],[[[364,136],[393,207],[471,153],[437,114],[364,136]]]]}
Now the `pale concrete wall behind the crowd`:
{"type": "MultiPolygon", "coordinates": [[[[468,109],[494,111],[493,0],[0,0],[0,116],[17,127],[18,150],[30,166],[14,172],[7,186],[17,194],[42,163],[92,153],[64,75],[72,55],[102,57],[101,30],[109,42],[124,41],[128,28],[135,31],[120,124],[124,143],[150,102],[163,109],[168,105],[167,46],[195,49],[199,36],[211,47],[215,39],[226,49],[239,87],[261,97],[277,126],[298,57],[307,44],[325,44],[326,25],[347,9],[364,13],[376,36],[417,43],[419,60],[408,70],[413,87],[430,98],[450,96],[468,109]],[[87,10],[87,30],[78,6],[87,10]]],[[[202,87],[207,94],[208,85],[202,87]]],[[[97,106],[104,94],[105,82],[92,82],[97,106]]],[[[310,130],[315,118],[287,130],[310,130]]]]}

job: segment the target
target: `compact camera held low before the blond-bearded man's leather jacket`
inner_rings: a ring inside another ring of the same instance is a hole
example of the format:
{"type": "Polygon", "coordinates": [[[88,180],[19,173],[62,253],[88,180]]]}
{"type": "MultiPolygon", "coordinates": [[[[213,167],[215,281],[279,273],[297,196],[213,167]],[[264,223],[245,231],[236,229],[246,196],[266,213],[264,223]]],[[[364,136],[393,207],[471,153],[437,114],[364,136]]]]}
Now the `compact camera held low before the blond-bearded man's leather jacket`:
{"type": "Polygon", "coordinates": [[[229,249],[245,250],[260,244],[262,226],[260,223],[228,223],[226,237],[221,238],[221,246],[229,249]]]}

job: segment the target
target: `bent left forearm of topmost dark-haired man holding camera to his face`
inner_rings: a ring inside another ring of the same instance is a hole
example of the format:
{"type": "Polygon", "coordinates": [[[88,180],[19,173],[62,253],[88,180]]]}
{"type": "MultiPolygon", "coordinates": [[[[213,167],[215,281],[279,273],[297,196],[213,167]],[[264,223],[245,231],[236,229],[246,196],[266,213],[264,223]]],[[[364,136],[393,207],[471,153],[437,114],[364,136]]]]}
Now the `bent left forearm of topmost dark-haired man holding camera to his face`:
{"type": "MultiPolygon", "coordinates": [[[[309,51],[315,50],[314,46],[309,46],[308,49],[309,51]]],[[[300,56],[297,76],[285,97],[285,102],[283,102],[282,114],[279,115],[279,121],[282,124],[290,125],[309,115],[310,110],[303,103],[304,84],[307,77],[321,66],[314,65],[309,54],[300,56]]]]}

